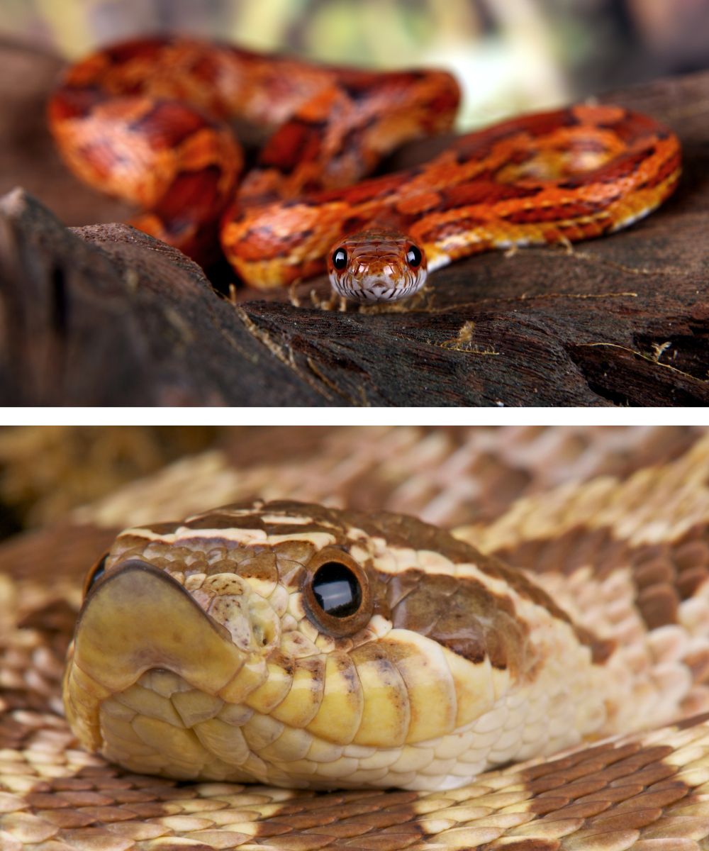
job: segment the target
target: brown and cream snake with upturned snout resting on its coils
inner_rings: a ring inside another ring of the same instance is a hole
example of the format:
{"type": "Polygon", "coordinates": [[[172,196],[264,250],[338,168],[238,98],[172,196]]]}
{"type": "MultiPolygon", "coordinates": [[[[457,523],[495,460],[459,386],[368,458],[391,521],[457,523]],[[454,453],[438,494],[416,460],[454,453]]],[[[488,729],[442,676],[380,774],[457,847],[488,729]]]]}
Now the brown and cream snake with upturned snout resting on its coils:
{"type": "Polygon", "coordinates": [[[292,499],[134,523],[74,597],[53,554],[223,486],[180,469],[3,551],[44,582],[0,575],[3,851],[706,847],[706,434],[453,534],[292,499]]]}

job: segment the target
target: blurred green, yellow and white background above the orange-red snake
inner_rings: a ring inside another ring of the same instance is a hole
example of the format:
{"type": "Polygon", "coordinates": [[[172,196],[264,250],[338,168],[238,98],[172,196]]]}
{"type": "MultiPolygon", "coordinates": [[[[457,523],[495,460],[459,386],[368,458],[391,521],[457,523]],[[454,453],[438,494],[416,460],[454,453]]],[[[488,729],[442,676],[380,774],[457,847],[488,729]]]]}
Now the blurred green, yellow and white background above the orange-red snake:
{"type": "Polygon", "coordinates": [[[0,0],[0,33],[67,59],[182,31],[315,60],[443,66],[459,130],[709,66],[709,0],[0,0]]]}

